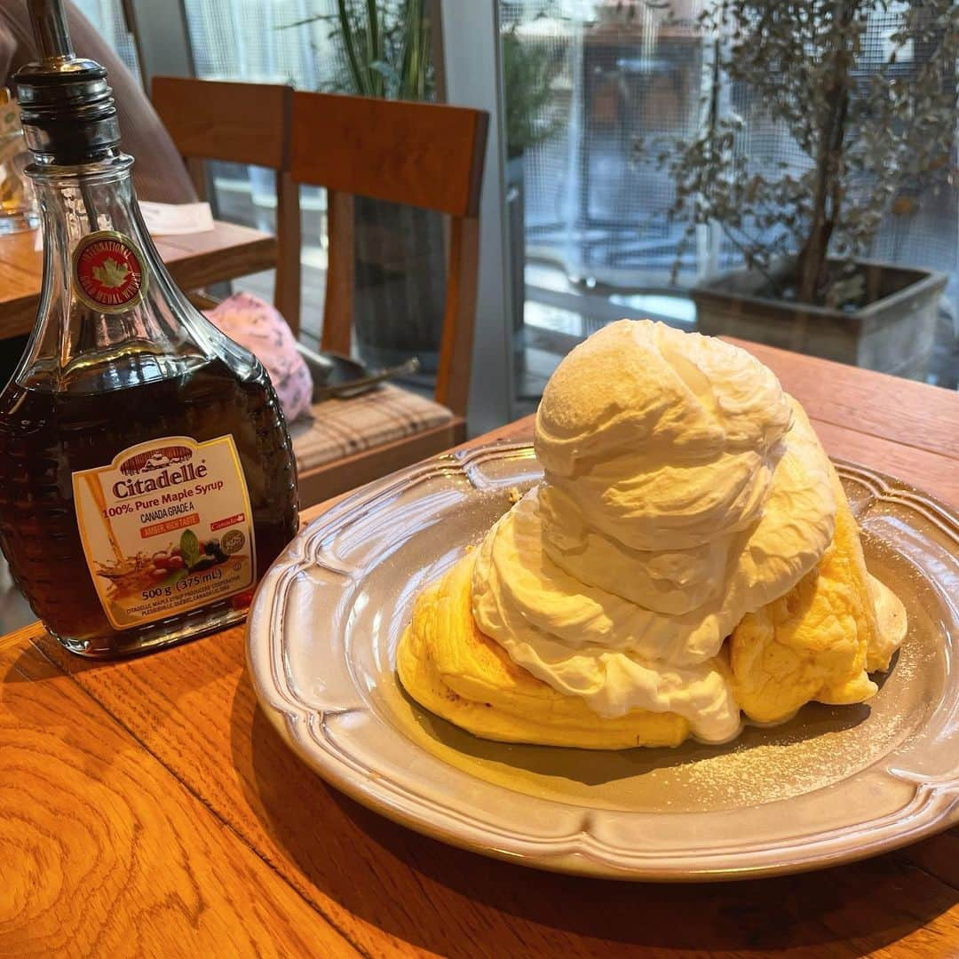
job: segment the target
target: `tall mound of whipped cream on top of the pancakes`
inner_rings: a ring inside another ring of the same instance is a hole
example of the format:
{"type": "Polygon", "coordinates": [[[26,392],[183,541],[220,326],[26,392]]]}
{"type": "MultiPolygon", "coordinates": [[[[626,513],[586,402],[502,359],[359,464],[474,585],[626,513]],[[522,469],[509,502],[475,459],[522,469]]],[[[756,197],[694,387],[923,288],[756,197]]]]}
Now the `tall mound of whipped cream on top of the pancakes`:
{"type": "Polygon", "coordinates": [[[802,408],[718,339],[620,320],[560,363],[536,418],[544,482],[490,530],[479,629],[616,716],[740,727],[725,638],[822,557],[835,501],[802,408]]]}

